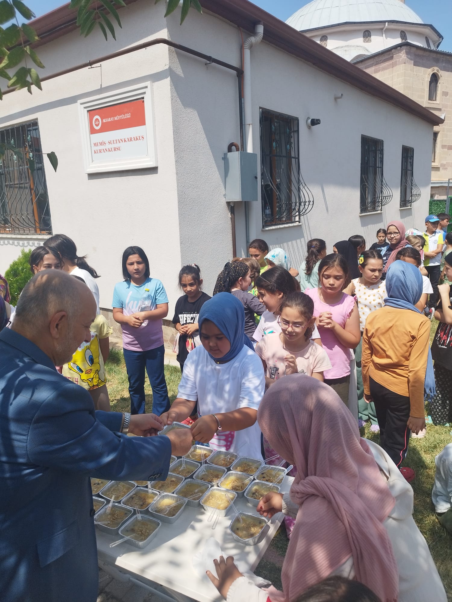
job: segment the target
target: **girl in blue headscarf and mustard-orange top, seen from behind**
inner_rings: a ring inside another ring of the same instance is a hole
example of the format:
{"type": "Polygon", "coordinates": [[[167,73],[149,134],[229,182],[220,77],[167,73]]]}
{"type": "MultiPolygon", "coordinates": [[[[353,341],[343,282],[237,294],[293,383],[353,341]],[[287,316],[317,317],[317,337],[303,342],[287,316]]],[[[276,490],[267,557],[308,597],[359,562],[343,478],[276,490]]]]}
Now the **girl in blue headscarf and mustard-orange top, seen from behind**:
{"type": "MultiPolygon", "coordinates": [[[[386,276],[385,306],[369,314],[362,345],[364,399],[373,401],[381,447],[397,467],[406,456],[410,433],[425,428],[424,388],[435,394],[430,320],[415,307],[422,276],[415,265],[395,261],[386,276]]],[[[407,480],[414,471],[402,468],[407,480]]]]}

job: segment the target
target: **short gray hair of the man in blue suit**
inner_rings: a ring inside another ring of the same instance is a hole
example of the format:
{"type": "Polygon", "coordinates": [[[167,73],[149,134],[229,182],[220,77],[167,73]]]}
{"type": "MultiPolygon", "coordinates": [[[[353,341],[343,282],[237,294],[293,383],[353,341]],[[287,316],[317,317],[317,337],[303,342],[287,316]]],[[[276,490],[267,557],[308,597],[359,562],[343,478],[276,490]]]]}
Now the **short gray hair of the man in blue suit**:
{"type": "Polygon", "coordinates": [[[37,330],[58,311],[65,311],[72,321],[83,309],[82,286],[74,276],[61,270],[37,273],[20,294],[14,321],[37,330]]]}

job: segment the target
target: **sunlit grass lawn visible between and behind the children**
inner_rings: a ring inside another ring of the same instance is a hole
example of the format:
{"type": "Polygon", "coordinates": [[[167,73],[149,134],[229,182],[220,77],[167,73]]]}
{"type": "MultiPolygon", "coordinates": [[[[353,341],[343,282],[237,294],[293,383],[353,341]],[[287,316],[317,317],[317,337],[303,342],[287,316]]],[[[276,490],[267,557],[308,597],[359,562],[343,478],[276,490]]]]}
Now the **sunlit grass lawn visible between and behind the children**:
{"type": "MultiPolygon", "coordinates": [[[[432,337],[437,323],[432,324],[432,337]]],[[[110,394],[111,409],[116,412],[130,411],[128,395],[127,372],[125,370],[122,352],[111,350],[107,364],[107,386],[110,394]]],[[[180,380],[180,369],[175,366],[165,366],[165,377],[171,402],[177,396],[180,380]]],[[[151,412],[152,393],[146,379],[146,412],[151,412]]],[[[427,436],[424,439],[412,439],[404,465],[416,471],[413,482],[414,519],[425,539],[427,540],[433,559],[438,567],[442,582],[448,592],[448,600],[452,602],[452,539],[439,525],[432,504],[432,486],[435,480],[435,456],[445,445],[452,442],[450,435],[452,427],[427,426],[427,436]]],[[[378,443],[379,437],[369,432],[369,426],[361,429],[363,436],[378,443]]],[[[284,529],[280,529],[271,543],[271,551],[276,557],[284,556],[287,550],[287,537],[284,529]]],[[[278,588],[281,588],[281,568],[278,563],[262,560],[256,573],[267,577],[278,588]]]]}

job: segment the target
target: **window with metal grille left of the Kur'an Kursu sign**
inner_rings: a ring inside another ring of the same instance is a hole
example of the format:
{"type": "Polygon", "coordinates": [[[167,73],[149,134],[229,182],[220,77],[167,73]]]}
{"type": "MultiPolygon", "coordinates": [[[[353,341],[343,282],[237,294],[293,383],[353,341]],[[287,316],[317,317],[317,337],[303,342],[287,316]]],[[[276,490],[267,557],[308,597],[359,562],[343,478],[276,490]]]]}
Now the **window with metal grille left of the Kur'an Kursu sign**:
{"type": "Polygon", "coordinates": [[[0,234],[52,234],[37,121],[0,130],[0,142],[22,154],[0,160],[0,234]]]}

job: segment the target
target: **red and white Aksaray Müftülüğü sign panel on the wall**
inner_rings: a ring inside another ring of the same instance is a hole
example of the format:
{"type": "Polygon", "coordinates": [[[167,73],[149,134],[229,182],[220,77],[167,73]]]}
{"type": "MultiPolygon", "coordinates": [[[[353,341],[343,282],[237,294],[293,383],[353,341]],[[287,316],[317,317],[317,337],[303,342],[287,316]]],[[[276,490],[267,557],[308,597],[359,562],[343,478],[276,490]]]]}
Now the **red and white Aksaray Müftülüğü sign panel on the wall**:
{"type": "Polygon", "coordinates": [[[93,164],[148,155],[144,99],[95,108],[87,117],[93,164]]]}

